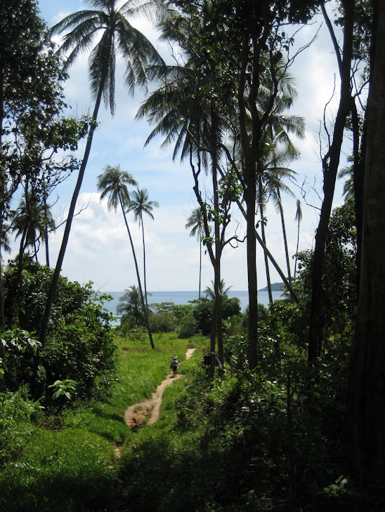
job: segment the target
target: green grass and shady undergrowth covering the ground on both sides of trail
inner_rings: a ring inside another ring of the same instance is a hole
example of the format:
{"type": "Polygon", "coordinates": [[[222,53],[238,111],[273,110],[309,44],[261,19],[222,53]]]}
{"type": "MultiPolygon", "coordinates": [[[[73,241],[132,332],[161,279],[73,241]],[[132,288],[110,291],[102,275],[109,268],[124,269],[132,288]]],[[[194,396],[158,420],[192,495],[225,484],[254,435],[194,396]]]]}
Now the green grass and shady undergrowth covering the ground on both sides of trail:
{"type": "Polygon", "coordinates": [[[308,369],[300,349],[266,337],[249,372],[242,343],[226,341],[226,371],[211,380],[203,338],[188,361],[186,341],[176,337],[158,339],[154,351],[121,340],[117,382],[105,400],[77,402],[50,421],[22,391],[6,396],[1,511],[384,510],[381,483],[358,488],[343,473],[339,362],[308,369]],[[175,352],[185,378],[164,390],[155,424],[130,431],[125,408],[155,391],[175,352]]]}

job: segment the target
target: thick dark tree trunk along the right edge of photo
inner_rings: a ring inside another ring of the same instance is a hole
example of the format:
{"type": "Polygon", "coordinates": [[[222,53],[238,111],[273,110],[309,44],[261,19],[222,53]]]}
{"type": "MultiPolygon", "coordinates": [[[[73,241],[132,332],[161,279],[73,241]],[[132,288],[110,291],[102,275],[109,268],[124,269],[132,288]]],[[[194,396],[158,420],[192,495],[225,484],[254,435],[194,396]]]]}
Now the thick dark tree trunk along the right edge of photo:
{"type": "Polygon", "coordinates": [[[372,19],[378,22],[367,105],[360,295],[345,423],[358,478],[367,471],[384,478],[385,464],[385,4],[376,0],[374,7],[372,19]]]}

